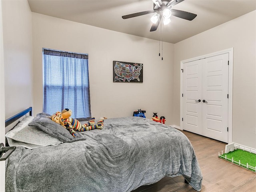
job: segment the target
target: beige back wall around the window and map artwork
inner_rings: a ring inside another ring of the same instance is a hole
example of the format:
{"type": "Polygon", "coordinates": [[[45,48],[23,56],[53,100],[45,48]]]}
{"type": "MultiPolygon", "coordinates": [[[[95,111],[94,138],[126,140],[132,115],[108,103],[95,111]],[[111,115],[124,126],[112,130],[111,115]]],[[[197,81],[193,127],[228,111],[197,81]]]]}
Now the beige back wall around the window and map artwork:
{"type": "MultiPolygon", "coordinates": [[[[92,116],[132,116],[146,110],[172,119],[174,45],[32,13],[34,113],[42,112],[42,48],[89,54],[92,116]],[[113,60],[143,63],[143,83],[113,83],[113,60]]],[[[58,70],[58,69],[56,69],[58,70]]],[[[60,109],[62,110],[62,109],[60,109]]]]}

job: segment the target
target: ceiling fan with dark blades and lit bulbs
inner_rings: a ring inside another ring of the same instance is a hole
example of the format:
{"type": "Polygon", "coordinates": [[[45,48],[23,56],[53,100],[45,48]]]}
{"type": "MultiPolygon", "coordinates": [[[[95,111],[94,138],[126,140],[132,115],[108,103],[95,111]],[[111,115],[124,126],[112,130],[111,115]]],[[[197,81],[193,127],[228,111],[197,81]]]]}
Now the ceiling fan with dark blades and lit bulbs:
{"type": "Polygon", "coordinates": [[[153,22],[150,31],[155,31],[155,30],[157,30],[157,28],[160,24],[160,20],[162,18],[163,18],[164,25],[166,25],[170,22],[171,15],[182,18],[182,19],[190,20],[190,21],[193,20],[197,16],[194,13],[172,9],[172,6],[182,2],[184,0],[152,0],[152,1],[154,2],[153,10],[124,15],[124,16],[122,16],[122,18],[128,19],[128,18],[132,18],[132,17],[155,13],[152,16],[152,18],[150,19],[153,22]]]}

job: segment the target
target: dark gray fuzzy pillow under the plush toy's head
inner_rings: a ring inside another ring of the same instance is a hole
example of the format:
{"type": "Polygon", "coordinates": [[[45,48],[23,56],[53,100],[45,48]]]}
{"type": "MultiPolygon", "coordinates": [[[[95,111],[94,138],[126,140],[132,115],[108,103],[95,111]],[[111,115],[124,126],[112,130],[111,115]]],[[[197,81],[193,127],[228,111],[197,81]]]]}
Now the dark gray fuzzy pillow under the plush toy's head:
{"type": "Polygon", "coordinates": [[[50,119],[50,115],[46,113],[39,113],[36,118],[28,124],[29,126],[36,126],[38,129],[46,132],[50,136],[61,140],[62,142],[75,142],[79,140],[86,140],[86,137],[79,132],[76,132],[76,137],[73,137],[70,132],[50,119]]]}

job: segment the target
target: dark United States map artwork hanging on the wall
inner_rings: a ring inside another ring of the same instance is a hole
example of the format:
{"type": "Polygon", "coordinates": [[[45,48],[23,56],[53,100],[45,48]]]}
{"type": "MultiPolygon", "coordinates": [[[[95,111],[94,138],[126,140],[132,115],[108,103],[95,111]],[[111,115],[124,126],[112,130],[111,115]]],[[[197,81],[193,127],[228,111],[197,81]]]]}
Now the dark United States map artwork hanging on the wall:
{"type": "Polygon", "coordinates": [[[113,82],[143,82],[143,64],[113,61],[113,82]]]}

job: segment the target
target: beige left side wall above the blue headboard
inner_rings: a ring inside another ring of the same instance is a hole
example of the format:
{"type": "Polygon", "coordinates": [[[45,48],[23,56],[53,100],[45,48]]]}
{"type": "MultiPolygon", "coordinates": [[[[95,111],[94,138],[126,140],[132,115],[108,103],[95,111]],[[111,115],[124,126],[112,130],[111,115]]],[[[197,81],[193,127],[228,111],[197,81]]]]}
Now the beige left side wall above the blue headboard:
{"type": "Polygon", "coordinates": [[[32,106],[32,12],[28,1],[3,0],[2,19],[5,118],[9,118],[32,106]]]}

